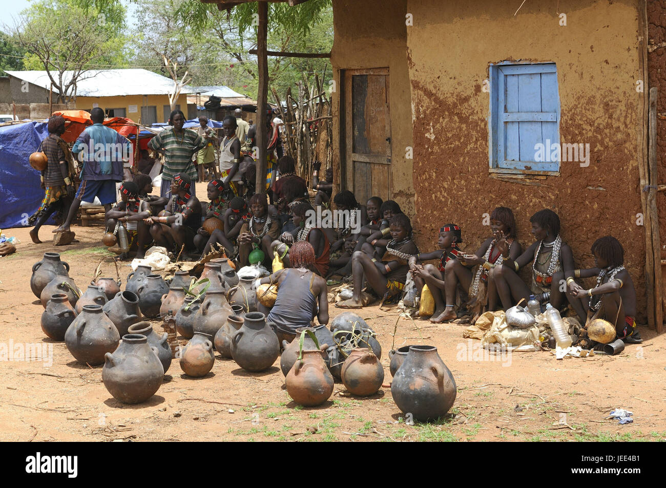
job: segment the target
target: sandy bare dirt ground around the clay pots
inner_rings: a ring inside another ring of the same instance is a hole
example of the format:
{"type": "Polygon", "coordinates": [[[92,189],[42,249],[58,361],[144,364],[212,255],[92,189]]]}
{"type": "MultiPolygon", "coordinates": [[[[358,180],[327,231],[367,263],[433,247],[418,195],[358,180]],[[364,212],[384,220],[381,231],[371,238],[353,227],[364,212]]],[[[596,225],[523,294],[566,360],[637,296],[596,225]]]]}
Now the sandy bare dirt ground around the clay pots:
{"type": "MultiPolygon", "coordinates": [[[[44,227],[43,239],[53,227],[44,227]]],[[[107,254],[101,227],[73,227],[81,241],[58,248],[79,288],[91,281],[107,254]]],[[[0,366],[0,440],[3,441],[586,441],[663,440],[666,337],[641,327],[642,346],[620,356],[555,360],[548,352],[482,357],[478,341],[462,338],[465,326],[432,325],[400,318],[396,347],[436,346],[451,369],[458,396],[439,423],[406,425],[390,387],[372,397],[353,397],[336,383],[324,405],[302,408],[284,389],[275,365],[246,373],[232,360],[216,362],[206,377],[182,375],[177,360],[157,394],[140,405],[116,401],[101,381],[102,367],[78,364],[63,342],[45,338],[43,308],[29,286],[31,266],[51,243],[33,244],[29,229],[7,229],[21,240],[18,251],[0,258],[0,347],[40,344],[45,360],[11,358],[0,366]],[[49,364],[51,363],[52,364],[49,364]],[[340,395],[340,393],[343,393],[340,395]],[[605,419],[614,407],[633,411],[634,422],[605,419]]],[[[105,268],[111,276],[111,268],[105,268]]],[[[121,278],[131,272],[125,264],[121,278]]],[[[331,316],[342,310],[331,307],[331,316]]],[[[399,310],[371,306],[361,316],[382,344],[385,382],[388,351],[399,310]]],[[[156,330],[161,331],[155,320],[156,330]]]]}

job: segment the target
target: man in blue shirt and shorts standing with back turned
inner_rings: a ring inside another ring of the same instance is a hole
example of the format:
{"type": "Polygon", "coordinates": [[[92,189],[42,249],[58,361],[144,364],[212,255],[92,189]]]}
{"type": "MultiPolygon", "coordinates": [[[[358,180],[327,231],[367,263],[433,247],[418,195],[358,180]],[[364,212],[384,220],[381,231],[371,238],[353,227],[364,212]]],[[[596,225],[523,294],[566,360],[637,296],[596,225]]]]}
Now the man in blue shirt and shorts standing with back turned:
{"type": "Polygon", "coordinates": [[[87,127],[74,143],[72,154],[83,161],[81,185],[69,208],[67,220],[53,232],[67,232],[79,210],[81,201],[93,202],[99,198],[106,212],[116,202],[116,182],[123,180],[123,160],[129,160],[130,143],[111,127],[104,126],[104,111],[91,110],[93,125],[87,127]]]}

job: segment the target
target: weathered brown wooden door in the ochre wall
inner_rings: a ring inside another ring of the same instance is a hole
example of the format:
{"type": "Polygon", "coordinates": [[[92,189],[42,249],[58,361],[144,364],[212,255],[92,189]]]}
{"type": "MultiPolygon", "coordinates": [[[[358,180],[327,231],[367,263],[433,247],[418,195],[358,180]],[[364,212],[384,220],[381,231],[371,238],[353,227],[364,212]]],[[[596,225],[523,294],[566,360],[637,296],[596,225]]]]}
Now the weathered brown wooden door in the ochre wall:
{"type": "Polygon", "coordinates": [[[360,204],[391,198],[388,69],[345,72],[346,187],[360,204]]]}

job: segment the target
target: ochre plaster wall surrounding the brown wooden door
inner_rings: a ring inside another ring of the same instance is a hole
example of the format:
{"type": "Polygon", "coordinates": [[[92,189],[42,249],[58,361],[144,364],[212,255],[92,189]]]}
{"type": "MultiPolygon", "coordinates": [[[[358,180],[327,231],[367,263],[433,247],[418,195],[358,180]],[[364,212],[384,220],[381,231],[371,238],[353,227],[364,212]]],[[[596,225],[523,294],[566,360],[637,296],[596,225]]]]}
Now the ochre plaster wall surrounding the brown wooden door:
{"type": "MultiPolygon", "coordinates": [[[[331,64],[336,88],[342,86],[341,69],[388,67],[392,197],[411,215],[414,212],[412,160],[405,158],[406,148],[412,146],[412,107],[405,55],[406,5],[406,0],[334,1],[335,39],[331,64]]],[[[340,115],[344,115],[344,101],[339,95],[338,89],[332,94],[333,134],[340,134],[340,115]]],[[[341,140],[344,147],[344,137],[341,140]]],[[[333,151],[334,181],[337,182],[340,181],[340,144],[336,142],[333,151]]],[[[386,195],[379,196],[384,200],[387,198],[386,195]]]]}

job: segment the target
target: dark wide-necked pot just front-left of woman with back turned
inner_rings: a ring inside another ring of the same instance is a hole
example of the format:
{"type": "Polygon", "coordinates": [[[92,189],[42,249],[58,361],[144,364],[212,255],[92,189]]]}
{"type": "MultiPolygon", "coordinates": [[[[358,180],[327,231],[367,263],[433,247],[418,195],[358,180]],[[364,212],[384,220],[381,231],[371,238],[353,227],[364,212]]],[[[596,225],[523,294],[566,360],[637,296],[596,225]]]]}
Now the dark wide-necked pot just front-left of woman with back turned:
{"type": "Polygon", "coordinates": [[[261,312],[245,314],[245,321],[234,334],[231,356],[238,366],[247,371],[264,371],[273,366],[280,354],[278,336],[266,324],[261,312]]]}

